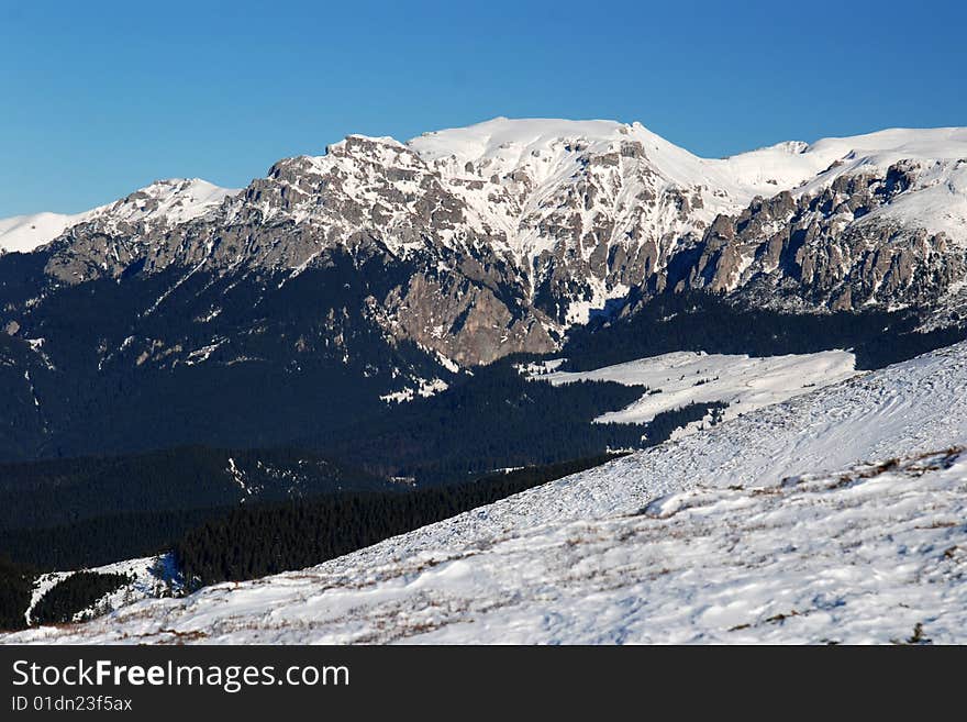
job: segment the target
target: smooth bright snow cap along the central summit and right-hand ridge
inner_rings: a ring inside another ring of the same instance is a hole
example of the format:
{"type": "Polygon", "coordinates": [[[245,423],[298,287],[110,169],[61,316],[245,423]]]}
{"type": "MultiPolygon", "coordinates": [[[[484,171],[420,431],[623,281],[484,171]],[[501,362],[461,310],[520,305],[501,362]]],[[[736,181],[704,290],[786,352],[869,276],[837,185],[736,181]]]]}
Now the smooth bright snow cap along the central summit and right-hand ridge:
{"type": "Polygon", "coordinates": [[[445,176],[525,171],[540,199],[548,192],[542,187],[560,184],[577,170],[582,154],[621,152],[622,144],[630,141],[641,144],[643,159],[667,184],[701,191],[704,206],[694,209],[694,218],[704,222],[718,213],[737,212],[755,196],[767,198],[791,189],[814,192],[842,175],[885,170],[899,160],[916,160],[934,166],[934,174],[918,190],[935,189],[927,196],[941,198],[921,198],[910,206],[910,198],[904,198],[899,207],[905,210],[898,214],[929,227],[965,233],[964,127],[891,129],[823,138],[811,145],[790,141],[719,159],[692,155],[641,123],[497,118],[468,127],[425,133],[408,145],[445,176]]]}

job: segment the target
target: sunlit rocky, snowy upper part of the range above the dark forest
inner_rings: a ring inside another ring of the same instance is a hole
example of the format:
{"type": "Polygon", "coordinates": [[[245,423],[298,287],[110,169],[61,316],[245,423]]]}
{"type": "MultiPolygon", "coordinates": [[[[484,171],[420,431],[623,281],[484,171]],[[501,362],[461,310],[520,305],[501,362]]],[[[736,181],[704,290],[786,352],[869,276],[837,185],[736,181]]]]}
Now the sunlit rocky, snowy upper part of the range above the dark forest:
{"type": "MultiPolygon", "coordinates": [[[[604,121],[497,119],[408,144],[354,135],[241,191],[162,181],[85,214],[43,251],[51,288],[32,302],[168,274],[174,286],[140,310],[164,314],[192,278],[255,279],[269,293],[347,257],[385,269],[363,311],[387,337],[464,366],[551,351],[632,292],[946,308],[967,276],[965,156],[959,129],[723,160],[604,121]]],[[[25,307],[7,306],[4,327],[22,323],[25,307]]]]}

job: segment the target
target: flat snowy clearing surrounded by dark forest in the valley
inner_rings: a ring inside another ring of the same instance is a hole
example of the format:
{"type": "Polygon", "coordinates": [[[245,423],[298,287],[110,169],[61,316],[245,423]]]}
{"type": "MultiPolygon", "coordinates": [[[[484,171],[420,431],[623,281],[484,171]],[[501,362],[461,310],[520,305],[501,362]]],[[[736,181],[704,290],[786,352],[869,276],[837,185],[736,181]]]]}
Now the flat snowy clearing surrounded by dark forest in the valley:
{"type": "Polygon", "coordinates": [[[729,403],[723,418],[733,419],[838,384],[856,374],[856,357],[846,351],[764,358],[682,351],[592,371],[541,374],[542,368],[548,368],[548,362],[532,366],[530,373],[555,386],[588,380],[648,387],[648,393],[625,409],[596,419],[601,423],[647,423],[663,411],[712,401],[729,403]]]}

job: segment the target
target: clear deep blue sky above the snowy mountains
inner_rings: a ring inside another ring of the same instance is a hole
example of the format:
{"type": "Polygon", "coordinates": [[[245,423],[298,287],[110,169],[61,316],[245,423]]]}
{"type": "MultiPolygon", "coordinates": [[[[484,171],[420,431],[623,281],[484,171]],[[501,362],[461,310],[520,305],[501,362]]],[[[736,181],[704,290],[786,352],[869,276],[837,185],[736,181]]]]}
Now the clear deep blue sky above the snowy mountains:
{"type": "Polygon", "coordinates": [[[0,216],[494,115],[707,156],[967,125],[965,4],[0,0],[0,216]]]}

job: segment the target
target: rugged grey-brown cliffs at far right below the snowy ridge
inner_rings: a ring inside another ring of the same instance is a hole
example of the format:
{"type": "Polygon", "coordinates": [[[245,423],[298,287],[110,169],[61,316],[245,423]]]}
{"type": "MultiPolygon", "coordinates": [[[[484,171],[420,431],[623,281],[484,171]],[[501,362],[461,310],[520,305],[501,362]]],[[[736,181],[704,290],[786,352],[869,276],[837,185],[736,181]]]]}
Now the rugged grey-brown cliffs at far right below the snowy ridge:
{"type": "Polygon", "coordinates": [[[764,304],[930,307],[967,275],[967,249],[944,231],[876,214],[909,192],[920,170],[900,162],[798,197],[757,198],[738,215],[715,220],[679,282],[764,304]]]}

